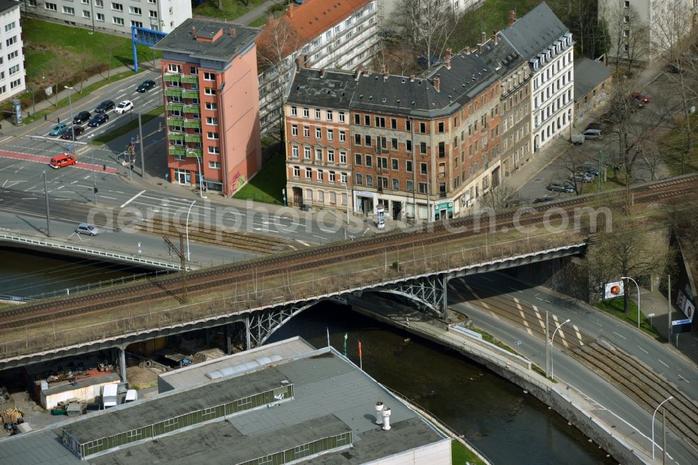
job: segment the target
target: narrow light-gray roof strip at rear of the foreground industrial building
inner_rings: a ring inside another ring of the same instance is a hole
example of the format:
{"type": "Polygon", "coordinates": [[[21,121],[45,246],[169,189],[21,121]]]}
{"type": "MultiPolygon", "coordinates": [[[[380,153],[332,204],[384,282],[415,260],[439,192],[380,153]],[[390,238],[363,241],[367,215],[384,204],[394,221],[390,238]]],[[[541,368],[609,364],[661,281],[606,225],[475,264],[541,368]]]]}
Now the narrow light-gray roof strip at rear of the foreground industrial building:
{"type": "Polygon", "coordinates": [[[207,360],[203,363],[189,365],[188,367],[180,368],[174,371],[167,371],[158,375],[158,391],[165,392],[177,388],[188,388],[196,384],[206,383],[211,378],[207,374],[220,371],[228,367],[240,367],[247,362],[262,359],[263,357],[272,357],[281,355],[282,358],[296,357],[304,353],[309,353],[315,348],[311,346],[302,337],[293,337],[285,341],[274,342],[245,350],[244,352],[226,355],[225,357],[207,360]]]}

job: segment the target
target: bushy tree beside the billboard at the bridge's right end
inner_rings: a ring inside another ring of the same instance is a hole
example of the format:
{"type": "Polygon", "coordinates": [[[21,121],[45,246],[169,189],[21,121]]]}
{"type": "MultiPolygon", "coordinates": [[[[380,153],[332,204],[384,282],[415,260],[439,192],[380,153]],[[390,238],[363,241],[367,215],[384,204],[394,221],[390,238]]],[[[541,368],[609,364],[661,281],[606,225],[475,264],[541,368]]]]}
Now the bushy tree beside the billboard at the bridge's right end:
{"type": "MultiPolygon", "coordinates": [[[[602,286],[621,276],[640,281],[664,272],[673,256],[666,231],[651,230],[646,223],[632,221],[620,212],[614,213],[612,225],[612,230],[601,232],[586,252],[586,271],[591,282],[602,286]],[[661,239],[666,239],[664,246],[661,239]]],[[[623,313],[628,313],[629,294],[626,287],[623,313]]]]}

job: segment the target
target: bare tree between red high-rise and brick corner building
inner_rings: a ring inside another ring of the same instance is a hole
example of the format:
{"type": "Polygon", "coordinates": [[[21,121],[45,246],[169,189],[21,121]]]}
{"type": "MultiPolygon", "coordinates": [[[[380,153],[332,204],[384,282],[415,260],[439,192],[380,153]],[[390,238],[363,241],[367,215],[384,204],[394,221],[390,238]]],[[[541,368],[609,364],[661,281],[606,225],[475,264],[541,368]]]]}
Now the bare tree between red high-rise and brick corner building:
{"type": "Polygon", "coordinates": [[[296,29],[285,15],[269,15],[262,35],[257,40],[258,73],[260,82],[260,105],[266,112],[267,121],[279,130],[283,142],[283,99],[290,82],[293,59],[301,40],[296,29]]]}

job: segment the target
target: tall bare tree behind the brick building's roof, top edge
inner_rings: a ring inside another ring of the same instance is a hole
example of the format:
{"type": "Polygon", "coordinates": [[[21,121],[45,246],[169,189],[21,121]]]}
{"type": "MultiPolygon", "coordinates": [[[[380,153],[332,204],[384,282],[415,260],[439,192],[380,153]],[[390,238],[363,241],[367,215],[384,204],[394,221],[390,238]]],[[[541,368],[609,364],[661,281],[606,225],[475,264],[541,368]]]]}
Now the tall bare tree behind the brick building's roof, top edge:
{"type": "Polygon", "coordinates": [[[440,59],[444,54],[457,20],[447,1],[399,0],[392,22],[403,38],[410,39],[414,52],[426,58],[426,67],[431,68],[431,57],[440,59]]]}

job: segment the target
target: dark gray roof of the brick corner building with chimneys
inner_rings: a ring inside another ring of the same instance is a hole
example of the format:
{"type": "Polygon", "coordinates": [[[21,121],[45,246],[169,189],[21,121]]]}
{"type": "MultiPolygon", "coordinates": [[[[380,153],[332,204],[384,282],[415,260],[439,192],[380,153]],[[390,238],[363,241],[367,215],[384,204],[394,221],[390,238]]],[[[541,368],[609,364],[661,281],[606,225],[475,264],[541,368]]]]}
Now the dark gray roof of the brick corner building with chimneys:
{"type": "Polygon", "coordinates": [[[518,52],[504,40],[488,40],[482,47],[452,56],[450,68],[440,64],[429,77],[382,73],[362,73],[355,79],[346,71],[321,71],[302,68],[295,75],[288,103],[334,106],[351,110],[437,118],[455,110],[480,94],[483,89],[509,73],[522,61],[518,52]],[[434,80],[440,80],[440,91],[434,80]],[[339,105],[337,103],[341,102],[339,105]]]}

